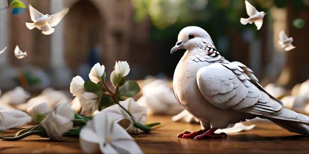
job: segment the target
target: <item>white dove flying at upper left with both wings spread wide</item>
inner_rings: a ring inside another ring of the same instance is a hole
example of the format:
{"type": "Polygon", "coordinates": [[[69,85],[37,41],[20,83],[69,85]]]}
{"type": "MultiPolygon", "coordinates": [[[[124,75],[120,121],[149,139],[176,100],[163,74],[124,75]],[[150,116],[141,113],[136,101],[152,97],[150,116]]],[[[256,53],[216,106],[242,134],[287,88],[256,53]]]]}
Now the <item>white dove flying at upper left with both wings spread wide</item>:
{"type": "Polygon", "coordinates": [[[64,8],[60,12],[48,15],[42,14],[37,9],[33,8],[31,4],[29,4],[29,11],[31,20],[34,23],[26,23],[26,26],[29,30],[37,28],[42,30],[42,33],[45,35],[49,35],[55,31],[54,26],[57,26],[61,19],[69,12],[69,8],[64,8]]]}

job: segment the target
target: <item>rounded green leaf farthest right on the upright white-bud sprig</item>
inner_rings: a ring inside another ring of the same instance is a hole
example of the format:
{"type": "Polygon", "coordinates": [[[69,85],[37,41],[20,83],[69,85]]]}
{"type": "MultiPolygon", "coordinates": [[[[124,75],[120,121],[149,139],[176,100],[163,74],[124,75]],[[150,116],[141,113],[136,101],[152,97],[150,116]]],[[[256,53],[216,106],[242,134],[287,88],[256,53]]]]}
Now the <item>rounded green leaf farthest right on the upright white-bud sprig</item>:
{"type": "Polygon", "coordinates": [[[129,80],[125,82],[122,86],[119,87],[118,95],[119,96],[127,96],[127,97],[133,97],[138,92],[140,92],[140,86],[133,80],[129,80]]]}

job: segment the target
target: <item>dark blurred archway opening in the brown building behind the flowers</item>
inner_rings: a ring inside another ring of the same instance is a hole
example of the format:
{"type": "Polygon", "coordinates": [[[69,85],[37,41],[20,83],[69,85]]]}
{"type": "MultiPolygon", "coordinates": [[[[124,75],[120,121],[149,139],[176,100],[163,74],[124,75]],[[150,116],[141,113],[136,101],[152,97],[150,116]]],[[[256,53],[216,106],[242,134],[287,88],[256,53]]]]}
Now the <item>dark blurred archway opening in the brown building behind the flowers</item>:
{"type": "Polygon", "coordinates": [[[67,4],[70,12],[65,24],[64,55],[68,67],[78,74],[86,63],[91,66],[95,62],[102,62],[104,18],[92,1],[67,1],[71,3],[67,4]]]}

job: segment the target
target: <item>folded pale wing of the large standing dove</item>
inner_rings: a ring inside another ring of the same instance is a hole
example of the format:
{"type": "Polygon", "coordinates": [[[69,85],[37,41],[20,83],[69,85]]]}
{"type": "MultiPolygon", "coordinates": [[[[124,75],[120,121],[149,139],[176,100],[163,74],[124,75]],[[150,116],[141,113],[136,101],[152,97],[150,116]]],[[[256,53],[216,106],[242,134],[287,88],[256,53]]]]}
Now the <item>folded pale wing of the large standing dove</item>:
{"type": "Polygon", "coordinates": [[[198,87],[212,105],[270,119],[309,123],[306,116],[282,108],[283,103],[267,93],[251,70],[240,64],[225,61],[198,70],[198,87]]]}

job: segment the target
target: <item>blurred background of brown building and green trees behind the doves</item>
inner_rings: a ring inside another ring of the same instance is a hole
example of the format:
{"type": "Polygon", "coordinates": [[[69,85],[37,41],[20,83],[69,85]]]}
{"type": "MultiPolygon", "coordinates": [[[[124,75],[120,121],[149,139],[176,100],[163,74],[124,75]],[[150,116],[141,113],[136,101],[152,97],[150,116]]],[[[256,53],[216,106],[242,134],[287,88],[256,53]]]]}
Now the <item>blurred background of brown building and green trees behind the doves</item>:
{"type": "MultiPolygon", "coordinates": [[[[51,35],[28,30],[28,9],[12,15],[0,10],[0,89],[22,86],[30,92],[47,87],[68,90],[76,75],[88,78],[90,68],[100,62],[107,74],[116,61],[127,61],[129,79],[157,75],[171,79],[184,51],[170,55],[178,32],[199,26],[212,37],[219,52],[239,61],[259,77],[292,88],[309,79],[309,0],[249,0],[268,14],[260,31],[241,25],[247,18],[244,0],[22,0],[43,14],[63,7],[70,12],[51,35]],[[279,31],[294,38],[296,49],[285,52],[278,44],[279,31]],[[18,60],[15,46],[27,51],[18,60]]],[[[7,0],[0,0],[0,8],[7,0]]],[[[109,76],[109,75],[108,75],[109,76]]]]}

